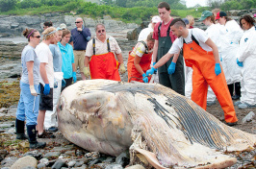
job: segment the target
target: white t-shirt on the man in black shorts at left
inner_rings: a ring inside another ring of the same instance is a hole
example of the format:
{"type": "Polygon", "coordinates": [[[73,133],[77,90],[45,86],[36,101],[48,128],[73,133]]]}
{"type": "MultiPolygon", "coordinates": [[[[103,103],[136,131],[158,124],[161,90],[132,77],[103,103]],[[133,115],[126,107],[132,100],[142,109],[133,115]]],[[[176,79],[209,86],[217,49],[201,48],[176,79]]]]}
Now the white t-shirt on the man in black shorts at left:
{"type": "MultiPolygon", "coordinates": [[[[38,46],[36,47],[36,53],[38,55],[38,59],[40,62],[46,62],[46,75],[50,84],[50,87],[53,88],[54,85],[54,69],[53,69],[53,57],[52,52],[47,44],[44,42],[40,42],[38,46]]],[[[44,82],[41,78],[41,75],[39,76],[39,83],[44,85],[44,82]]]]}

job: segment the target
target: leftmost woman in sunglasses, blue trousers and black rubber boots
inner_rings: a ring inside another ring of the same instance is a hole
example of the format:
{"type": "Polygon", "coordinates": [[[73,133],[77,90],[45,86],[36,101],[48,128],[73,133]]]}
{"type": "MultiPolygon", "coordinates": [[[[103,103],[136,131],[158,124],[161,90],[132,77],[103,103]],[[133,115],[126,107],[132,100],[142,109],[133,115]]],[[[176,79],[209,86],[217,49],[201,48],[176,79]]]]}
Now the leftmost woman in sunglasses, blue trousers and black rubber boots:
{"type": "Polygon", "coordinates": [[[45,142],[38,142],[36,126],[39,106],[39,64],[35,48],[40,42],[40,34],[35,29],[26,29],[23,36],[28,38],[21,54],[22,75],[20,79],[20,99],[16,111],[16,139],[27,139],[24,127],[25,120],[29,136],[30,148],[44,148],[45,142]]]}

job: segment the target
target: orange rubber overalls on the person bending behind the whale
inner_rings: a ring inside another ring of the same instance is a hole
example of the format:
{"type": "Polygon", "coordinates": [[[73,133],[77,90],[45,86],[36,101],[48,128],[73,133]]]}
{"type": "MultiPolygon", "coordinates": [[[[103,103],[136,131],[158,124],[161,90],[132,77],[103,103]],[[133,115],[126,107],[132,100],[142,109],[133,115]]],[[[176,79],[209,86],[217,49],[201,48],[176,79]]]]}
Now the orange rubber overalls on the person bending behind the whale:
{"type": "MultiPolygon", "coordinates": [[[[144,41],[141,41],[141,42],[143,43],[143,45],[147,50],[147,46],[144,43],[144,41]]],[[[129,52],[128,63],[127,63],[128,83],[130,83],[131,81],[138,81],[143,83],[143,80],[142,80],[143,77],[134,65],[135,57],[131,56],[130,53],[131,52],[129,52]]],[[[139,64],[141,65],[141,69],[143,70],[143,72],[146,72],[148,69],[150,69],[151,60],[152,60],[152,53],[144,53],[142,55],[141,61],[139,64]]],[[[148,81],[150,81],[150,79],[151,78],[148,78],[148,81]]]]}

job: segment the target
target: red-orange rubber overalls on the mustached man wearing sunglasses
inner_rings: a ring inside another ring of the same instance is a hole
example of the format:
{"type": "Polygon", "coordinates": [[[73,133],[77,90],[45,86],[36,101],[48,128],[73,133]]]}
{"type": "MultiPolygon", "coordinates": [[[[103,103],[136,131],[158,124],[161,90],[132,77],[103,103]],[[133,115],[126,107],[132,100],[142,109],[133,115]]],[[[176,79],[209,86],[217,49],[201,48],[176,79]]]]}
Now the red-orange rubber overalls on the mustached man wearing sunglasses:
{"type": "Polygon", "coordinates": [[[93,55],[90,58],[90,77],[91,79],[106,79],[121,81],[118,73],[119,63],[115,60],[114,53],[110,49],[110,41],[107,39],[108,53],[95,55],[95,39],[92,39],[93,55]]]}

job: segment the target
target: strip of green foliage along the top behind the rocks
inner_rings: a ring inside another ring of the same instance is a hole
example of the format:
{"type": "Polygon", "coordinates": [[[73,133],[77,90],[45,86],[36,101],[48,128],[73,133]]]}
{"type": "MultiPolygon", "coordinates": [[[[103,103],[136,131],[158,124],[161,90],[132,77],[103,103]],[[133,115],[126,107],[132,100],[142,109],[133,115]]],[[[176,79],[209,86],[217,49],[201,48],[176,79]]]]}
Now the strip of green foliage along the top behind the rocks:
{"type": "MultiPolygon", "coordinates": [[[[162,0],[102,0],[102,4],[85,2],[84,0],[0,0],[0,14],[41,14],[46,12],[76,12],[90,17],[111,15],[112,18],[124,22],[141,23],[152,15],[158,14],[157,5],[162,0]]],[[[220,8],[222,11],[249,10],[256,8],[256,0],[224,0],[211,1],[209,7],[187,9],[179,0],[166,0],[170,5],[171,15],[186,17],[191,14],[199,17],[201,12],[220,8]]],[[[70,13],[71,14],[71,13],[70,13]]]]}

